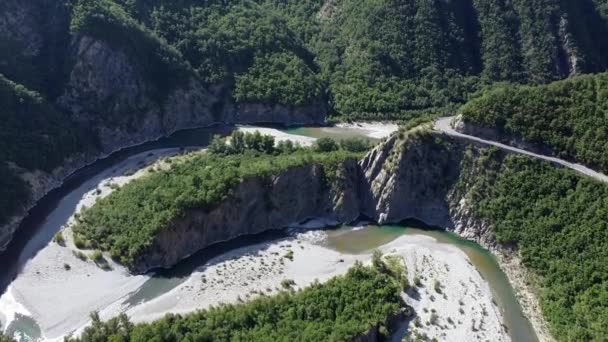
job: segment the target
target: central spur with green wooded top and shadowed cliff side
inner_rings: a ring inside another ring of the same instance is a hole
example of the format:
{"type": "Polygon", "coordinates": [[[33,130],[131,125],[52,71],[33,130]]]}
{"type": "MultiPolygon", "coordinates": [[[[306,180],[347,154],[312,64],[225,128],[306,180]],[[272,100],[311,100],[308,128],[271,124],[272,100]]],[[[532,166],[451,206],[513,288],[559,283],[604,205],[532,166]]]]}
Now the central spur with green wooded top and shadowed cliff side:
{"type": "Polygon", "coordinates": [[[349,222],[359,214],[359,156],[192,156],[84,211],[73,228],[75,241],[144,273],[240,235],[316,217],[349,222]]]}

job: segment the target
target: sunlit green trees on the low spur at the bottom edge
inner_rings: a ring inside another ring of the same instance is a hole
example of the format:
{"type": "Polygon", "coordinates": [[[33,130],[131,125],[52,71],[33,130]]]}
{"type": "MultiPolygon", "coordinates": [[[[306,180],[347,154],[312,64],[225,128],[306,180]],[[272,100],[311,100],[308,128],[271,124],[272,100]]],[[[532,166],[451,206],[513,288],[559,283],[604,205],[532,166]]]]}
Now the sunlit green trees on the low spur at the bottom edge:
{"type": "Polygon", "coordinates": [[[386,327],[388,318],[405,305],[400,292],[390,275],[356,264],[345,276],[298,292],[167,315],[148,324],[133,325],[124,314],[101,322],[94,313],[92,325],[66,342],[348,341],[373,325],[386,327]]]}

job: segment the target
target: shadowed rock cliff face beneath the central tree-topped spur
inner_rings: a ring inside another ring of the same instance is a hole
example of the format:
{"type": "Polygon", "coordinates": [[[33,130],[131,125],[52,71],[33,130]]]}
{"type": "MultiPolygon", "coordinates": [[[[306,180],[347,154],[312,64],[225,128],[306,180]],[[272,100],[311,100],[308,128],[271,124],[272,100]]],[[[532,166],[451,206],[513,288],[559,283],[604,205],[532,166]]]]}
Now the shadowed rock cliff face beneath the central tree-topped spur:
{"type": "Polygon", "coordinates": [[[192,210],[172,222],[132,271],[170,267],[217,242],[281,229],[311,218],[350,222],[359,215],[358,167],[344,162],[329,184],[323,166],[306,165],[279,175],[244,180],[211,211],[192,210]]]}

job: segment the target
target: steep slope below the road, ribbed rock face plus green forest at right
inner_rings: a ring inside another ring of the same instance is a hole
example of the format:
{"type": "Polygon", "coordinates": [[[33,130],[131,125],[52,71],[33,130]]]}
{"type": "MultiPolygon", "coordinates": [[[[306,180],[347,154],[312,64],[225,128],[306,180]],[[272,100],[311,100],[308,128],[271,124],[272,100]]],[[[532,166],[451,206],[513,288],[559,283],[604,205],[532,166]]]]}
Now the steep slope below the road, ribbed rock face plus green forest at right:
{"type": "MultiPolygon", "coordinates": [[[[547,162],[421,132],[393,137],[361,166],[370,185],[362,198],[367,215],[387,223],[415,218],[507,255],[516,251],[535,277],[511,280],[523,293],[538,291],[557,340],[606,336],[606,184],[547,162]],[[526,290],[530,283],[534,288],[526,290]]],[[[542,318],[532,322],[537,331],[545,329],[542,318]]]]}

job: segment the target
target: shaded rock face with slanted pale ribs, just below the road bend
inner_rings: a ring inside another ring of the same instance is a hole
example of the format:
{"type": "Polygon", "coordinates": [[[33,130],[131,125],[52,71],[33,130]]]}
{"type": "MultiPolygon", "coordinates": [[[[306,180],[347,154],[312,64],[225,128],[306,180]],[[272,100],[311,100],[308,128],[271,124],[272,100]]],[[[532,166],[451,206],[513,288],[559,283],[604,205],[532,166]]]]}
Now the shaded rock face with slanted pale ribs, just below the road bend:
{"type": "MultiPolygon", "coordinates": [[[[413,133],[416,134],[416,133],[413,133]]],[[[369,193],[366,215],[378,223],[417,219],[428,225],[453,228],[447,194],[459,175],[458,151],[449,140],[435,136],[393,136],[362,162],[369,193]]]]}

